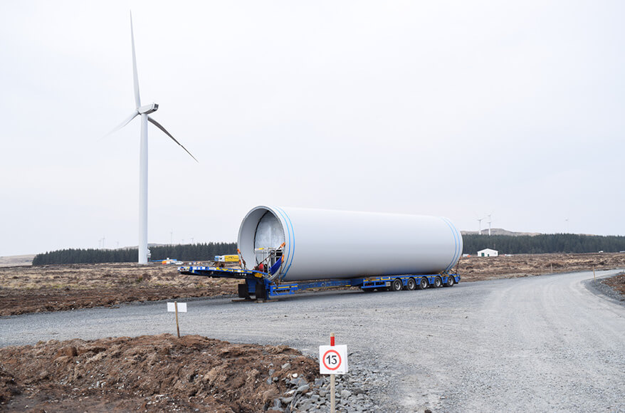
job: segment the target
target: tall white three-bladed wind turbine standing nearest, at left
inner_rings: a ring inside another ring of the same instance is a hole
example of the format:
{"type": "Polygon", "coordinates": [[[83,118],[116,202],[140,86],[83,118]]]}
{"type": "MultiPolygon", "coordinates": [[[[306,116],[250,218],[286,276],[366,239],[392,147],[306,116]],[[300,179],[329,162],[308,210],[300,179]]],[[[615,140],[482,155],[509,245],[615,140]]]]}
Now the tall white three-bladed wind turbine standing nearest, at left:
{"type": "Polygon", "coordinates": [[[130,41],[132,42],[132,80],[135,85],[135,110],[132,115],[127,117],[124,122],[115,129],[111,130],[107,135],[113,132],[117,132],[122,127],[125,127],[131,120],[137,116],[141,116],[141,142],[140,142],[140,155],[139,155],[139,263],[147,263],[147,257],[149,251],[147,249],[147,122],[151,122],[153,125],[162,130],[165,135],[172,138],[174,142],[182,147],[196,162],[198,162],[191,152],[186,147],[182,146],[180,142],[172,136],[167,130],[153,117],[149,116],[150,113],[154,113],[158,110],[159,105],[157,103],[150,103],[149,105],[141,105],[141,99],[139,97],[139,76],[137,75],[137,58],[135,56],[135,32],[132,29],[132,12],[130,13],[130,41]]]}

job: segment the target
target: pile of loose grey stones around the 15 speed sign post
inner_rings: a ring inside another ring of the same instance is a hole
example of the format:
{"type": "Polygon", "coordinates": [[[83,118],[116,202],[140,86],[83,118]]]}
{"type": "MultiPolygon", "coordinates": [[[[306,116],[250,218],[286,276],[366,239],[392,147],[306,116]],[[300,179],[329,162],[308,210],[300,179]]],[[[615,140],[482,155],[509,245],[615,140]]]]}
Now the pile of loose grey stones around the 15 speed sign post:
{"type": "MultiPolygon", "coordinates": [[[[380,370],[363,367],[361,357],[350,353],[350,372],[336,375],[335,407],[337,412],[388,412],[372,399],[375,390],[383,389],[388,378],[380,370]],[[374,390],[372,392],[372,390],[374,390]]],[[[330,409],[330,376],[325,375],[315,382],[301,377],[283,379],[290,389],[273,401],[268,412],[328,412],[330,409]]]]}

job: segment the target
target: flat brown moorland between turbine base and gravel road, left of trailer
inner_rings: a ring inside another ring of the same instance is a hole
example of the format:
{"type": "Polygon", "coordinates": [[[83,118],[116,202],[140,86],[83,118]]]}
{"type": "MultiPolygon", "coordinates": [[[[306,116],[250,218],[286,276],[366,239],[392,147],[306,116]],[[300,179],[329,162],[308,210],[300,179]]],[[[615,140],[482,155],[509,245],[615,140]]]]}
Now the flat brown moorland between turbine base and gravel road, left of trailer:
{"type": "Polygon", "coordinates": [[[131,263],[0,268],[0,315],[236,294],[238,281],[131,263]]]}

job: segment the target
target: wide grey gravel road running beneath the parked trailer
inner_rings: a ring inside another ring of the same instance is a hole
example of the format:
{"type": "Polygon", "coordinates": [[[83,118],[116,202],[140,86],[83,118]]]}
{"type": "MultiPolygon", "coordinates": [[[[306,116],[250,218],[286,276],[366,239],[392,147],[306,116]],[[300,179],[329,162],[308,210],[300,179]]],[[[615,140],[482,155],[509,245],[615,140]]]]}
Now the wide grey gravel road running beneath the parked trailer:
{"type": "MultiPolygon", "coordinates": [[[[335,332],[354,370],[382,377],[367,390],[384,411],[624,412],[625,305],[587,288],[592,278],[325,291],[272,303],[192,300],[181,333],[314,355],[335,332]]],[[[174,332],[163,302],[0,318],[0,346],[174,332]]]]}

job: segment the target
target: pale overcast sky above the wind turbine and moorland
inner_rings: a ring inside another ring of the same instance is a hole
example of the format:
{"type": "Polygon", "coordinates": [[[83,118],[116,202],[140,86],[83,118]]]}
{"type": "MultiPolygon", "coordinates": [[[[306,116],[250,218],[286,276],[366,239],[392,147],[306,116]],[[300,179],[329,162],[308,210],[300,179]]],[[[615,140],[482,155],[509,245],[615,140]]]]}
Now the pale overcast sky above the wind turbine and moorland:
{"type": "Polygon", "coordinates": [[[137,245],[140,122],[100,139],[130,9],[142,103],[199,160],[150,125],[150,243],[261,204],[625,235],[623,1],[2,0],[0,256],[137,245]]]}

